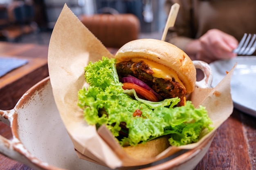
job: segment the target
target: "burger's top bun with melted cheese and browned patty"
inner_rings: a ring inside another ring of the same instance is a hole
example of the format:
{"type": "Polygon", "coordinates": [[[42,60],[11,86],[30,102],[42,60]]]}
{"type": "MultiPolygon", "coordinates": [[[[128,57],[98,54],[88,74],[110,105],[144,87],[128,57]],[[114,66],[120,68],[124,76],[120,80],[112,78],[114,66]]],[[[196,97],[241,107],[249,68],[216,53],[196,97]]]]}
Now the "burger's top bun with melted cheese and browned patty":
{"type": "MultiPolygon", "coordinates": [[[[131,41],[117,51],[115,58],[119,77],[133,76],[147,84],[153,94],[147,93],[144,97],[151,101],[179,97],[178,106],[184,106],[186,95],[195,88],[193,62],[184,51],[168,42],[155,39],[131,41]]],[[[132,86],[127,83],[136,82],[132,78],[121,78],[121,81],[128,89],[132,86]]]]}

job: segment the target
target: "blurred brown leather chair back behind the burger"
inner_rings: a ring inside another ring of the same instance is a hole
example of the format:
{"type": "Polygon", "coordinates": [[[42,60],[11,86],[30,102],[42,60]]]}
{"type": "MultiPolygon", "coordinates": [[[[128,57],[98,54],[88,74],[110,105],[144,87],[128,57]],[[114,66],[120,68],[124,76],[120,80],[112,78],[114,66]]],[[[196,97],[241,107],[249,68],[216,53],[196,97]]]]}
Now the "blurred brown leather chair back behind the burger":
{"type": "Polygon", "coordinates": [[[120,48],[139,36],[139,19],[132,14],[81,15],[79,19],[109,48],[120,48]]]}

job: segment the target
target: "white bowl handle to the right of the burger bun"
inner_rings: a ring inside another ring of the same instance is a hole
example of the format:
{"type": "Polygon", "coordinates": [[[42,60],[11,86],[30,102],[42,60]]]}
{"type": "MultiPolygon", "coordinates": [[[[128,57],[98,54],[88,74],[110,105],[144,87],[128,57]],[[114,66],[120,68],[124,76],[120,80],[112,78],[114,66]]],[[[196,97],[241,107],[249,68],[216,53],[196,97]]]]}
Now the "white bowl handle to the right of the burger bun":
{"type": "Polygon", "coordinates": [[[195,82],[195,86],[199,88],[210,88],[213,74],[209,64],[199,60],[193,60],[195,68],[200,69],[204,73],[204,78],[200,81],[195,82]]]}

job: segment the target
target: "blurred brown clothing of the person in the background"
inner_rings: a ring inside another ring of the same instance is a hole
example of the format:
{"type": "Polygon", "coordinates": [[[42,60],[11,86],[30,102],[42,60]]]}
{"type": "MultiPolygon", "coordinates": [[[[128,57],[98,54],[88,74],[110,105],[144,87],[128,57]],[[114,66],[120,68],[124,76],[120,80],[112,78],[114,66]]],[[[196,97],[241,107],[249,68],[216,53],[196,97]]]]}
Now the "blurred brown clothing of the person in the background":
{"type": "Polygon", "coordinates": [[[246,3],[241,0],[166,0],[166,13],[175,2],[180,4],[179,13],[165,41],[183,51],[189,41],[200,38],[210,29],[219,29],[238,41],[244,33],[255,33],[256,0],[246,0],[246,3]]]}

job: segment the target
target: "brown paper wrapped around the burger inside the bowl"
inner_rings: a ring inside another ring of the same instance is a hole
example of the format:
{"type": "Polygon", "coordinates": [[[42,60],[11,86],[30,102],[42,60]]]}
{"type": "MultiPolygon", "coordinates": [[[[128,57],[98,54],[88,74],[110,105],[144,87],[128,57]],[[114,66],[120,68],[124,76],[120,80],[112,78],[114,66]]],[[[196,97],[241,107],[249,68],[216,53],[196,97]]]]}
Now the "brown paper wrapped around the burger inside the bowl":
{"type": "Polygon", "coordinates": [[[108,49],[80,22],[65,4],[54,26],[48,52],[49,76],[56,106],[74,144],[79,158],[110,168],[139,166],[152,163],[182,149],[193,149],[213,135],[216,129],[231,115],[233,102],[230,80],[234,68],[215,88],[196,88],[191,94],[195,106],[207,108],[215,129],[202,132],[195,144],[171,146],[152,159],[132,159],[117,144],[105,126],[89,126],[83,118],[83,110],[77,106],[78,91],[88,86],[84,79],[84,67],[102,56],[114,57],[108,49]]]}

